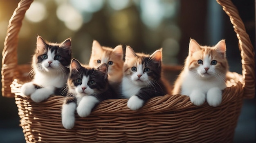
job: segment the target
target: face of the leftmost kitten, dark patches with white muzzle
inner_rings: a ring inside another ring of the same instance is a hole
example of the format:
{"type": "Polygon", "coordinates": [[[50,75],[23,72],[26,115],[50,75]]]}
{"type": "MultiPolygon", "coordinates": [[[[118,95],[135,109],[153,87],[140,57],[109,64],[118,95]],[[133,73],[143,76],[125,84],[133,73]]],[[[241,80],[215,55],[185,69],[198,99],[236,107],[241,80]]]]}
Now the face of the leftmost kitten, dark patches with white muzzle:
{"type": "Polygon", "coordinates": [[[33,67],[40,72],[63,73],[71,61],[71,39],[62,43],[48,43],[37,37],[36,51],[33,56],[33,67]]]}

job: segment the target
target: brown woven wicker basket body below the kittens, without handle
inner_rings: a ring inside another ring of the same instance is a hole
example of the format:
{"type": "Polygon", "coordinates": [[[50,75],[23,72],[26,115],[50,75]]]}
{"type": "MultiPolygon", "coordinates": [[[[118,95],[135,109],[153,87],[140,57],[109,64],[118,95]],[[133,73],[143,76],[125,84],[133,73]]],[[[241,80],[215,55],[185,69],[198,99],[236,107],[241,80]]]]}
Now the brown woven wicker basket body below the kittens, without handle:
{"type": "MultiPolygon", "coordinates": [[[[156,108],[157,112],[154,112],[153,107],[157,105],[153,105],[152,114],[147,108],[128,111],[128,108],[124,108],[126,99],[106,100],[90,116],[82,118],[76,115],[72,130],[66,130],[61,124],[62,96],[34,103],[16,95],[16,104],[25,138],[29,142],[231,142],[242,106],[240,96],[243,93],[234,88],[225,89],[222,104],[215,108],[207,103],[194,106],[188,102],[184,106],[179,105],[182,102],[175,103],[174,100],[166,104],[168,98],[158,105],[163,107],[164,103],[167,109],[162,108],[161,111],[156,108]],[[123,103],[112,104],[112,101],[123,103]],[[108,111],[107,105],[118,108],[119,111],[108,111]],[[106,111],[101,110],[102,107],[106,111]]],[[[185,100],[188,98],[184,95],[176,96],[185,100]]]]}

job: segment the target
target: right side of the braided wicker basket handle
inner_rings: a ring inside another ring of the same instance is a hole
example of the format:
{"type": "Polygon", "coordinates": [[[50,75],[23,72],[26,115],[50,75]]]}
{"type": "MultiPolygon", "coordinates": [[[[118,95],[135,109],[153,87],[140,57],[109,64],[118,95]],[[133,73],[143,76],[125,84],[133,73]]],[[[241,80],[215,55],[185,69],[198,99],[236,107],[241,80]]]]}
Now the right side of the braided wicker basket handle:
{"type": "Polygon", "coordinates": [[[238,38],[238,46],[242,58],[242,74],[244,83],[244,98],[254,98],[255,95],[255,61],[252,42],[245,30],[245,25],[238,15],[236,6],[231,0],[216,0],[222,6],[223,11],[229,15],[234,31],[238,38]]]}

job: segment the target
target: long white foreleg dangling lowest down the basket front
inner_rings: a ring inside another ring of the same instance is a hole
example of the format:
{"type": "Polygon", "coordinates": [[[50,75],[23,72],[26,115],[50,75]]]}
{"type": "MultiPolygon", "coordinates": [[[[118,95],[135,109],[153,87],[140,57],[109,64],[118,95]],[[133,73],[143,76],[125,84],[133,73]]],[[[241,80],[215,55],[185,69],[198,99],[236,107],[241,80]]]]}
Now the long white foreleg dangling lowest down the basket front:
{"type": "Polygon", "coordinates": [[[61,111],[61,121],[64,128],[70,130],[74,127],[75,111],[76,111],[75,103],[63,104],[62,111],[61,111]]]}

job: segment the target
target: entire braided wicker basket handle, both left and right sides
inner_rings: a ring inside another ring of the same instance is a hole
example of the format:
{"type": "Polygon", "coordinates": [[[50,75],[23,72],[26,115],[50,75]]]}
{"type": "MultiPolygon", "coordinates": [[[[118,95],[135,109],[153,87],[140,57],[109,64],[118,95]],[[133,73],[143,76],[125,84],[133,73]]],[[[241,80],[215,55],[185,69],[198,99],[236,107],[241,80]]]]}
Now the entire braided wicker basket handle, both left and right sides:
{"type": "MultiPolygon", "coordinates": [[[[242,58],[242,74],[244,83],[244,98],[254,98],[255,94],[255,64],[254,64],[254,49],[249,35],[245,31],[245,26],[236,6],[231,0],[216,0],[223,10],[229,15],[230,21],[233,24],[234,31],[238,38],[238,45],[241,51],[242,58]]],[[[7,36],[4,41],[4,50],[2,52],[2,96],[13,97],[11,94],[11,82],[16,76],[17,47],[18,33],[20,31],[22,20],[25,12],[29,8],[33,0],[20,0],[18,7],[15,9],[8,25],[7,36]]]]}

